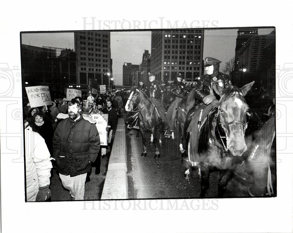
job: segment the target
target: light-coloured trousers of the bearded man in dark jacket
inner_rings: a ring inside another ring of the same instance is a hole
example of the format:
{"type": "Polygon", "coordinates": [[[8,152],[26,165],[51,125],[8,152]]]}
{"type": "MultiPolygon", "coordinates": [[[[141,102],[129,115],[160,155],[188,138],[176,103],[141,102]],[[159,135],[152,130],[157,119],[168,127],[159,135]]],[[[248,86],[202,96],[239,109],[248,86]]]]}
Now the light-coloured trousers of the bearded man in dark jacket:
{"type": "Polygon", "coordinates": [[[62,184],[65,189],[69,189],[69,194],[74,200],[84,200],[84,185],[86,183],[86,173],[70,177],[59,174],[62,184]]]}

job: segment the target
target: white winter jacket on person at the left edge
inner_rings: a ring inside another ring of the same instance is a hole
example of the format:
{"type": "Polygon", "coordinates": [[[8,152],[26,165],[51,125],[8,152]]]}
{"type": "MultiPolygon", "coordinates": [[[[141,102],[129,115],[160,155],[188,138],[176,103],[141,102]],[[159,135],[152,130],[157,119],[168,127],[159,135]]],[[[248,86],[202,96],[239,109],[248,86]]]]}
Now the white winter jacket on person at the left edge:
{"type": "Polygon", "coordinates": [[[27,201],[35,201],[39,187],[50,184],[52,163],[45,140],[40,134],[24,130],[27,201]]]}

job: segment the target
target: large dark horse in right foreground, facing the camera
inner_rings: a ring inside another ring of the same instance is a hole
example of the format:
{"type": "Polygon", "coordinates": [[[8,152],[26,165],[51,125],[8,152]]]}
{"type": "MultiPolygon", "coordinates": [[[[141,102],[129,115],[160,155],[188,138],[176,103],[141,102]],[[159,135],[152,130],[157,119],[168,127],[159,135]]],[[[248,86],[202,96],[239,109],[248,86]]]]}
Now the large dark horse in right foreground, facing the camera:
{"type": "MultiPolygon", "coordinates": [[[[215,92],[221,97],[219,107],[209,114],[207,120],[202,122],[198,148],[189,146],[189,157],[194,160],[193,155],[198,156],[196,159],[198,161],[190,162],[198,163],[201,172],[200,197],[204,197],[209,188],[209,173],[214,168],[220,170],[218,197],[223,197],[236,165],[243,160],[241,156],[247,150],[244,140],[247,128],[246,117],[249,115],[248,104],[244,96],[253,83],[240,89],[232,85],[225,89],[214,86],[215,92]],[[223,140],[221,136],[225,136],[226,140],[223,140]]],[[[196,135],[191,134],[190,140],[193,137],[196,135]]]]}

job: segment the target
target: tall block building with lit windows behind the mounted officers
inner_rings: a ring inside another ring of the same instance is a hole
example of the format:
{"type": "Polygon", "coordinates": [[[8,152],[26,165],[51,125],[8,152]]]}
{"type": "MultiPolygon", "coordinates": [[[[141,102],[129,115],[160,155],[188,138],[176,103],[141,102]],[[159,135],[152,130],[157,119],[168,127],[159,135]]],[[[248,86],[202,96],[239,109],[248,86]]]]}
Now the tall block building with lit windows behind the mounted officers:
{"type": "Polygon", "coordinates": [[[185,83],[197,82],[203,73],[203,29],[151,32],[151,70],[160,80],[173,82],[181,73],[185,83]]]}

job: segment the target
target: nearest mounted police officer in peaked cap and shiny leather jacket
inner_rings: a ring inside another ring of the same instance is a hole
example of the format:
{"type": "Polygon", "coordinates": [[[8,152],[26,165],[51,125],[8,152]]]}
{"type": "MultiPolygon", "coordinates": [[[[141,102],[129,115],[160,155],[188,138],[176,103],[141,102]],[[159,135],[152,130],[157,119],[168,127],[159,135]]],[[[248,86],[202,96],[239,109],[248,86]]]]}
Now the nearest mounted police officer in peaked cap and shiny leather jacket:
{"type": "MultiPolygon", "coordinates": [[[[200,80],[195,86],[195,98],[197,103],[204,102],[210,104],[216,100],[213,92],[213,85],[226,87],[231,85],[231,80],[228,75],[219,72],[219,66],[222,61],[212,57],[205,58],[205,70],[207,74],[200,76],[200,80]]],[[[216,107],[216,106],[215,106],[216,107]]]]}

